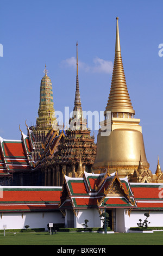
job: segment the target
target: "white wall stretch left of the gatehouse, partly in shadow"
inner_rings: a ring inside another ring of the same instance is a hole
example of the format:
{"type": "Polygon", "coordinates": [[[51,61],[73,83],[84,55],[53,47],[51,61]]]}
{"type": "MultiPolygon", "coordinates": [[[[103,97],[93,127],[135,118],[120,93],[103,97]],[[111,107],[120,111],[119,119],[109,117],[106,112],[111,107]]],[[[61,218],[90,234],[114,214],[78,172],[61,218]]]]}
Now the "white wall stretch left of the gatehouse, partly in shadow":
{"type": "Polygon", "coordinates": [[[29,228],[47,230],[48,223],[64,223],[61,212],[3,213],[0,218],[0,229],[4,229],[3,225],[7,225],[5,229],[23,229],[25,225],[29,225],[29,228]]]}

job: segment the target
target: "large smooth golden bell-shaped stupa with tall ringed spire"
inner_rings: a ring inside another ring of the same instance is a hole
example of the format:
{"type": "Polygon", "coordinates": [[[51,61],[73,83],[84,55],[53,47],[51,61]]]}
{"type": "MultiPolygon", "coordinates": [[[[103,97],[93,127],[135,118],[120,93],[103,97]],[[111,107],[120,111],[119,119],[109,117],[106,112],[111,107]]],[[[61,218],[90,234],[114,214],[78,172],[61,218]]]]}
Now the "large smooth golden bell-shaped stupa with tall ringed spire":
{"type": "Polygon", "coordinates": [[[121,57],[118,17],[116,46],[111,89],[104,112],[105,120],[100,123],[97,136],[97,154],[93,173],[118,171],[120,177],[131,177],[138,168],[140,155],[143,168],[148,169],[140,119],[135,119],[131,105],[121,57]]]}

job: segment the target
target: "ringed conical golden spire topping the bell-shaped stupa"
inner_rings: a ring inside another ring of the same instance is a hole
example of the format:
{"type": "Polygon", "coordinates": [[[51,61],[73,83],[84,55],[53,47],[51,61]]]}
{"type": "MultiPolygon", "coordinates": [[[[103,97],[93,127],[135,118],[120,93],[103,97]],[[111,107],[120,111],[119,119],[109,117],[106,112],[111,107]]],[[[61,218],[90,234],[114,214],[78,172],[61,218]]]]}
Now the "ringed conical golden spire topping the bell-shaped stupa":
{"type": "Polygon", "coordinates": [[[118,17],[117,28],[116,28],[116,44],[115,44],[115,60],[114,69],[112,72],[111,89],[109,94],[106,111],[112,113],[130,113],[135,114],[135,111],[131,105],[126,78],[123,70],[123,63],[121,57],[121,46],[120,46],[120,34],[118,28],[118,17]]]}

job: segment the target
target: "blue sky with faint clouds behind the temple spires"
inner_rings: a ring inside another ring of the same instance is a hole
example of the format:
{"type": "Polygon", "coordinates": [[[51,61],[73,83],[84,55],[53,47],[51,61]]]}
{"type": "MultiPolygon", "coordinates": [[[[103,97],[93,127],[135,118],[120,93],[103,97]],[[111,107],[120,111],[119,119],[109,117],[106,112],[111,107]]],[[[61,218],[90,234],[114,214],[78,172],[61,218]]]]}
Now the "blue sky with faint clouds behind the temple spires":
{"type": "Polygon", "coordinates": [[[45,63],[55,111],[72,111],[77,40],[83,111],[105,110],[118,16],[124,72],[135,118],[141,119],[147,160],[155,173],[159,155],[162,169],[162,8],[162,0],[1,0],[0,136],[21,139],[18,126],[26,134],[25,120],[35,124],[45,63]]]}

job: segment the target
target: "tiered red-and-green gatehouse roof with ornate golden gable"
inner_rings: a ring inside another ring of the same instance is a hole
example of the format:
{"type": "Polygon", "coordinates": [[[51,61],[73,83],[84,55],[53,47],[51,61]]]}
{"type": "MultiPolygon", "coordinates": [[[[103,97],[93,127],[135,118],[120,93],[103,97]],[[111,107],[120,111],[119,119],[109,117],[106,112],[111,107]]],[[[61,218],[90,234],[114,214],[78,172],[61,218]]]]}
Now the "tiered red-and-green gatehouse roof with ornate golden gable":
{"type": "Polygon", "coordinates": [[[84,172],[83,178],[65,175],[61,192],[60,209],[136,208],[136,202],[127,178],[84,172]]]}

